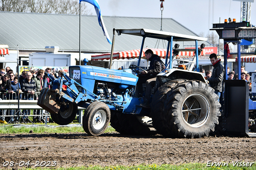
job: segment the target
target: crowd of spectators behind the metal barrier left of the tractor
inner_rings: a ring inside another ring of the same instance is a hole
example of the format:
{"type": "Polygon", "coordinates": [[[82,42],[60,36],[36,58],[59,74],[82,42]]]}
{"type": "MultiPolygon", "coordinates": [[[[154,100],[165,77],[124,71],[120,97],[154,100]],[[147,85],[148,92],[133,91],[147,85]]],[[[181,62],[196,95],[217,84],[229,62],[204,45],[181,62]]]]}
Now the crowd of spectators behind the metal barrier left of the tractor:
{"type": "MultiPolygon", "coordinates": [[[[58,71],[58,76],[56,76],[51,68],[46,68],[46,70],[22,71],[21,75],[18,76],[18,73],[14,73],[10,67],[0,69],[0,100],[16,100],[18,98],[20,100],[38,100],[44,83],[49,83],[50,81],[48,77],[45,77],[45,71],[55,78],[59,77],[62,72],[58,71]]],[[[15,113],[15,110],[0,110],[0,123],[7,124],[8,121],[19,121],[14,119],[10,120],[11,117],[6,117],[6,115],[14,115],[15,113]]],[[[30,110],[23,109],[22,113],[24,115],[30,115],[30,110]]],[[[40,110],[33,111],[33,115],[39,114],[40,110]]],[[[26,117],[22,119],[26,122],[29,121],[26,117]]],[[[33,116],[33,123],[38,122],[40,122],[39,116],[33,116]]]]}

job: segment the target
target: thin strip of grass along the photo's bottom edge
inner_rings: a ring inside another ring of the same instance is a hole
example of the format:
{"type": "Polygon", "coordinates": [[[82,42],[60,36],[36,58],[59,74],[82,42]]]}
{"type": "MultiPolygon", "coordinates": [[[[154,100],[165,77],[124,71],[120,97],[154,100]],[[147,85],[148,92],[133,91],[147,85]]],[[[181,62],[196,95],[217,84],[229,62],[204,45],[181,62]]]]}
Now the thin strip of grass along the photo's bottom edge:
{"type": "MultiPolygon", "coordinates": [[[[24,168],[25,169],[25,168],[24,168]]],[[[26,168],[26,170],[37,170],[41,168],[26,168]]],[[[233,166],[232,163],[228,166],[206,166],[206,164],[200,163],[188,163],[181,165],[170,165],[170,164],[140,164],[138,166],[82,166],[72,168],[43,168],[43,170],[255,170],[256,165],[252,164],[251,167],[239,167],[233,166]]]]}

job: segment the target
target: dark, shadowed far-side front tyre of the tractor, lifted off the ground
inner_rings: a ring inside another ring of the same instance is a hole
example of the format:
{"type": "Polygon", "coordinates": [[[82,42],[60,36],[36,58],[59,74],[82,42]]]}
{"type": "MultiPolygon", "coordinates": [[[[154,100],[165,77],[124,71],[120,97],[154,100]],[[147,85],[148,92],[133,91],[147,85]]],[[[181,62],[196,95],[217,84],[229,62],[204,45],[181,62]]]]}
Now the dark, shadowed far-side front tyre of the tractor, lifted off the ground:
{"type": "Polygon", "coordinates": [[[52,120],[58,125],[68,125],[76,117],[77,106],[73,103],[63,103],[58,113],[50,113],[52,120]]]}

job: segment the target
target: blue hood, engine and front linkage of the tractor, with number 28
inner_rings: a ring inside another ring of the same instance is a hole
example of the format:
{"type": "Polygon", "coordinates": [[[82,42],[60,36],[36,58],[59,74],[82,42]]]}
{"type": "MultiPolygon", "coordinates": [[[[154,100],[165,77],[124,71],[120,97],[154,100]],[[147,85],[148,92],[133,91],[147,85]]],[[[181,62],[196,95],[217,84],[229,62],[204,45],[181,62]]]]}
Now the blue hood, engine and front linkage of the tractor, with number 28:
{"type": "MultiPolygon", "coordinates": [[[[64,75],[64,79],[54,80],[53,85],[55,89],[61,84],[70,87],[62,92],[72,97],[80,107],[88,106],[83,101],[103,101],[112,110],[134,113],[142,103],[141,99],[131,96],[138,81],[131,69],[114,70],[80,65],[70,66],[69,72],[70,77],[64,75]],[[114,93],[116,91],[118,93],[114,93]]],[[[70,100],[65,95],[62,98],[70,100]]]]}

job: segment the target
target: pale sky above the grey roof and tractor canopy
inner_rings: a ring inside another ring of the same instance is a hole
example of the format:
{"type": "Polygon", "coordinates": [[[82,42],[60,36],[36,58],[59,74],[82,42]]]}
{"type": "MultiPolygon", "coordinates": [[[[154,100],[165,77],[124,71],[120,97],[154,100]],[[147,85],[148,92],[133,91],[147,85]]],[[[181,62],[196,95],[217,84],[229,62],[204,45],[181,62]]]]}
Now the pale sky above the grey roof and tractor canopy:
{"type": "MultiPolygon", "coordinates": [[[[98,0],[98,2],[102,16],[161,18],[160,0],[98,0]]],[[[240,22],[241,2],[239,1],[165,0],[163,5],[163,18],[172,18],[196,34],[203,32],[204,36],[210,32],[213,23],[224,23],[224,19],[228,18],[236,18],[236,22],[240,22]]],[[[87,7],[91,9],[92,15],[96,15],[93,5],[87,3],[87,7]]],[[[256,25],[255,0],[251,3],[250,23],[256,25]]],[[[162,30],[168,32],[164,30],[164,26],[162,30]]]]}

